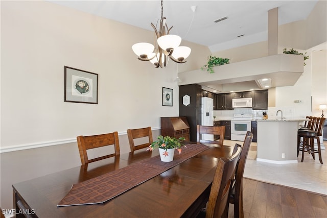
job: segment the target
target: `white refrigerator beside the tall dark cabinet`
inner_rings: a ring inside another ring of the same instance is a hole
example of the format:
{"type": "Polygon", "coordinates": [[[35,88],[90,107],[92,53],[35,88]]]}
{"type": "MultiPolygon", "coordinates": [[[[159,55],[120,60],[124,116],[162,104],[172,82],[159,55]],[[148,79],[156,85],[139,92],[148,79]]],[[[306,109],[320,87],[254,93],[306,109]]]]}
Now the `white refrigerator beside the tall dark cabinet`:
{"type": "MultiPolygon", "coordinates": [[[[214,100],[208,97],[201,98],[201,125],[214,126],[214,100]]],[[[204,140],[214,140],[214,135],[202,134],[204,140]]]]}

